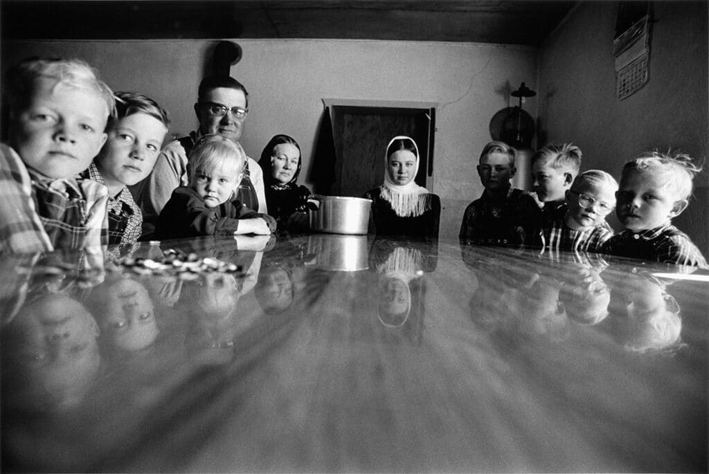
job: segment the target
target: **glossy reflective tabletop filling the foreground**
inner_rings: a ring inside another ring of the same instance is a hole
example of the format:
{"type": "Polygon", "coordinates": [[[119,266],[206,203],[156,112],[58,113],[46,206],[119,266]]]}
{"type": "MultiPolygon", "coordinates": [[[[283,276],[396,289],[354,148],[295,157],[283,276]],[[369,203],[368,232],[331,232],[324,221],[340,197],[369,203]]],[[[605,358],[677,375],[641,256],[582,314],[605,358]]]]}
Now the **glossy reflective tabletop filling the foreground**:
{"type": "Polygon", "coordinates": [[[706,272],[264,244],[5,257],[1,468],[708,469],[706,272]]]}

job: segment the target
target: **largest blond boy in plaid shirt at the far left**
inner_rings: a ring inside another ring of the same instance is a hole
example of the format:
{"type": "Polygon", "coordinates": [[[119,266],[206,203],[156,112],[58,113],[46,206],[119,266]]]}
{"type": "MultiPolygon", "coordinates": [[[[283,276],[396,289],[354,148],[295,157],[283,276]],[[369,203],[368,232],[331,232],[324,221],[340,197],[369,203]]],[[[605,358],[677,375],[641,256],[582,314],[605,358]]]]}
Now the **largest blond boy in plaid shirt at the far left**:
{"type": "Polygon", "coordinates": [[[9,146],[0,147],[0,252],[105,243],[106,186],[74,179],[106,142],[111,89],[79,60],[28,60],[9,71],[9,146]]]}

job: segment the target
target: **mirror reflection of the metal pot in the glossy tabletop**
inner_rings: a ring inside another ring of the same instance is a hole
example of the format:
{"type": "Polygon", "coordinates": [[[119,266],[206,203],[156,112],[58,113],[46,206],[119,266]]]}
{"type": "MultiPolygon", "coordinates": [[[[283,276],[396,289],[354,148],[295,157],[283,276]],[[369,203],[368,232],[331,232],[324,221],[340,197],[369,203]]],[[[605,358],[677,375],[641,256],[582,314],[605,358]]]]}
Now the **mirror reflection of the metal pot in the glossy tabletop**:
{"type": "Polygon", "coordinates": [[[316,257],[306,265],[322,270],[358,271],[369,268],[366,235],[308,235],[308,254],[316,257]]]}

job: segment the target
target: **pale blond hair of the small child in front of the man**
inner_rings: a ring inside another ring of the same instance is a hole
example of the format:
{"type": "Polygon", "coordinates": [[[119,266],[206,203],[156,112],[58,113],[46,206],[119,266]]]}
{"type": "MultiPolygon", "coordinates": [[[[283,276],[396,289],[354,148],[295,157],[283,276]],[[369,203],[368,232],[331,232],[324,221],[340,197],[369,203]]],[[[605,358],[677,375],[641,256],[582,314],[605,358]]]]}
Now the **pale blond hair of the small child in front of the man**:
{"type": "Polygon", "coordinates": [[[209,173],[225,164],[233,168],[234,174],[243,172],[246,152],[239,142],[222,135],[205,135],[199,139],[189,153],[189,181],[194,182],[197,171],[209,173]]]}

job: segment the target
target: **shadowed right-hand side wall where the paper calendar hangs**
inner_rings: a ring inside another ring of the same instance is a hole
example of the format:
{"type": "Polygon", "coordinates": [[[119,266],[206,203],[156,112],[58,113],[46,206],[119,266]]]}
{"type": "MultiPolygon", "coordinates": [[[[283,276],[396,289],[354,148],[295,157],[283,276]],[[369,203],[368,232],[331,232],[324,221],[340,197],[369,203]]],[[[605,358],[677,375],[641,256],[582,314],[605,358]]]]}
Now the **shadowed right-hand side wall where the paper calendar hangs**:
{"type": "MultiPolygon", "coordinates": [[[[616,9],[615,2],[580,2],[542,44],[539,122],[548,142],[575,142],[584,152],[584,169],[616,177],[627,159],[651,149],[681,149],[706,159],[707,3],[653,4],[649,82],[623,101],[615,98],[616,9]]],[[[706,255],[708,174],[694,184],[694,199],[676,225],[706,255]]],[[[611,223],[618,227],[615,217],[611,223]]]]}

